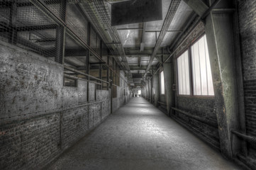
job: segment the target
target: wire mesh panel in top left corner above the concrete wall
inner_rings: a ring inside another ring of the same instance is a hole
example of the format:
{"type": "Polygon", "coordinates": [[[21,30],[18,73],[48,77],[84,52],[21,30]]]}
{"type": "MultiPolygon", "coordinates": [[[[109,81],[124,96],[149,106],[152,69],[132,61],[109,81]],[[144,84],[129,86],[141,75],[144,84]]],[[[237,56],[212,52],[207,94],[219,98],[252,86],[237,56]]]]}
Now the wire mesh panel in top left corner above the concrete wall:
{"type": "Polygon", "coordinates": [[[1,40],[52,57],[56,54],[57,23],[29,1],[0,2],[1,40]]]}

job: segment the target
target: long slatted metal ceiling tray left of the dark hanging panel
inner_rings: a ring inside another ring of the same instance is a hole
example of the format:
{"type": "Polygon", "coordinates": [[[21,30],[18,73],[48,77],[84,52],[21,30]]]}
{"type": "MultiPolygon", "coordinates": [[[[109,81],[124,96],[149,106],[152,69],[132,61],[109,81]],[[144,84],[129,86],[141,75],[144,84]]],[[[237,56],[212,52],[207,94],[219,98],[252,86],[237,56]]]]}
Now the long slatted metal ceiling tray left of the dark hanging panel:
{"type": "Polygon", "coordinates": [[[112,55],[120,56],[118,58],[115,57],[116,62],[126,69],[128,77],[132,77],[118,32],[116,28],[111,27],[111,12],[110,6],[108,5],[103,0],[84,0],[79,3],[82,11],[86,13],[91,24],[96,28],[96,31],[104,40],[108,49],[111,50],[112,55]]]}

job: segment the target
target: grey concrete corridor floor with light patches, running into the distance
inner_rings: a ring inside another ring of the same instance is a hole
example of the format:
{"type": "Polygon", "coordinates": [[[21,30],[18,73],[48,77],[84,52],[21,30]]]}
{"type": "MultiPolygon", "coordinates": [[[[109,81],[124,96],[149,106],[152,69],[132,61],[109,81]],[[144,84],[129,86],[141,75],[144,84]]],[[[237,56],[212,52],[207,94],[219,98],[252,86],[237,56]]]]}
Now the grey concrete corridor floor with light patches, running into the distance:
{"type": "Polygon", "coordinates": [[[240,169],[144,98],[126,106],[48,169],[240,169]]]}

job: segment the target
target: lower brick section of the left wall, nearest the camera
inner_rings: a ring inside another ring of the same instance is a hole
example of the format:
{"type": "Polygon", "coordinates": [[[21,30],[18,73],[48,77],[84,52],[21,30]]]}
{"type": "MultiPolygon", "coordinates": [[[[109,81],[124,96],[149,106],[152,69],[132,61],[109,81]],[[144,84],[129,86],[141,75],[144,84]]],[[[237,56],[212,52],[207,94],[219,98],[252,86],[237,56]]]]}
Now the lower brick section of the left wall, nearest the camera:
{"type": "Polygon", "coordinates": [[[35,169],[60,153],[60,113],[0,125],[0,169],[35,169]]]}

